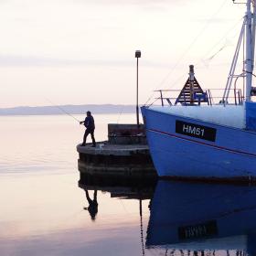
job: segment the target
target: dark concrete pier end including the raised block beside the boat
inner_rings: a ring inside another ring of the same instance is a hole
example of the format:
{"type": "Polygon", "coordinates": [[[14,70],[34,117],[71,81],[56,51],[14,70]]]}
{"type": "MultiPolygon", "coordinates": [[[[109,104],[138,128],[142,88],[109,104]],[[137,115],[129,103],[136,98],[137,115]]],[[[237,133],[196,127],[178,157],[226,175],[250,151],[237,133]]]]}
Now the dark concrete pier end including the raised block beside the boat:
{"type": "Polygon", "coordinates": [[[80,173],[93,176],[155,177],[144,127],[109,124],[109,141],[77,146],[80,173]]]}

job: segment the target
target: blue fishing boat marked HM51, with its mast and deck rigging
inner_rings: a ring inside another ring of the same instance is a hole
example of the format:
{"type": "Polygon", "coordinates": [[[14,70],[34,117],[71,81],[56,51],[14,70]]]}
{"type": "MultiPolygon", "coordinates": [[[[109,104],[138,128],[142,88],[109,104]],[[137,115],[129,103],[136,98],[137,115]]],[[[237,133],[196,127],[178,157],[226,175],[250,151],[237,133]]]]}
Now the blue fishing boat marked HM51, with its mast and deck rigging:
{"type": "Polygon", "coordinates": [[[203,90],[189,67],[189,77],[176,97],[142,107],[147,141],[159,176],[189,179],[256,180],[256,102],[251,101],[256,7],[247,11],[223,96],[203,90]],[[236,64],[244,49],[243,70],[236,64]],[[244,89],[237,81],[244,80],[244,89]],[[167,104],[167,105],[166,105],[167,104]]]}

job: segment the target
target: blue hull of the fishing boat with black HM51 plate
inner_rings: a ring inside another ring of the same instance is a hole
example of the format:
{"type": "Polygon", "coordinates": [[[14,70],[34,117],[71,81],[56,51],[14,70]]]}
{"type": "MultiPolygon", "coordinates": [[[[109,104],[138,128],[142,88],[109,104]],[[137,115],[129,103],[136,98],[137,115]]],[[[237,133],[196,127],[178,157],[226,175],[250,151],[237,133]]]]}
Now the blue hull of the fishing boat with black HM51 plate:
{"type": "Polygon", "coordinates": [[[142,108],[158,176],[256,180],[256,133],[142,108]]]}

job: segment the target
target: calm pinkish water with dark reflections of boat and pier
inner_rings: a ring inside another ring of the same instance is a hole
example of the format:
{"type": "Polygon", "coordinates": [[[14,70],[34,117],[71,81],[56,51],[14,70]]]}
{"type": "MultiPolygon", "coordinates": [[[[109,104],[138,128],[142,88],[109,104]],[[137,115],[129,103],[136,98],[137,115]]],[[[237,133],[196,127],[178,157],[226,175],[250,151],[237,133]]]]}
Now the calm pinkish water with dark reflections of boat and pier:
{"type": "MultiPolygon", "coordinates": [[[[107,123],[135,122],[94,117],[98,141],[107,123]]],[[[256,255],[255,187],[80,180],[84,130],[69,116],[0,123],[1,256],[256,255]]]]}

